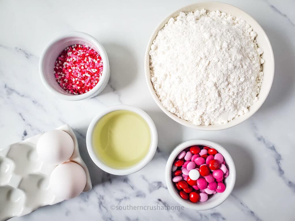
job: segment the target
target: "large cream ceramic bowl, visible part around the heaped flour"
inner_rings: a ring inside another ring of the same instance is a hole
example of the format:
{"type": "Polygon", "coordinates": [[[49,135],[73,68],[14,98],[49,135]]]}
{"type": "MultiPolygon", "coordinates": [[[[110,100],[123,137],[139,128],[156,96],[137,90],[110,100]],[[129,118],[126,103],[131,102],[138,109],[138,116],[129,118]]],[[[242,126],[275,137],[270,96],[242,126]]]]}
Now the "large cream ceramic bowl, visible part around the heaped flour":
{"type": "Polygon", "coordinates": [[[235,6],[221,3],[221,2],[214,2],[214,1],[208,1],[208,2],[200,2],[196,4],[192,4],[186,7],[183,7],[181,9],[178,9],[177,11],[173,12],[172,14],[168,15],[159,25],[156,27],[155,31],[153,32],[152,36],[150,37],[150,40],[148,42],[148,46],[145,52],[145,77],[146,81],[148,83],[148,88],[150,90],[150,93],[157,103],[157,105],[163,110],[165,114],[167,114],[170,118],[172,118],[174,121],[187,126],[191,128],[196,128],[199,130],[204,131],[217,131],[217,130],[223,130],[226,128],[230,128],[232,126],[235,126],[239,123],[242,123],[246,119],[248,119],[250,116],[252,116],[263,104],[265,101],[273,82],[273,75],[274,75],[274,58],[273,58],[273,50],[271,48],[271,43],[268,40],[268,37],[266,36],[266,33],[263,31],[262,27],[246,12],[242,11],[241,9],[238,9],[235,6]],[[190,11],[196,11],[198,9],[206,9],[209,11],[216,11],[219,10],[221,12],[225,12],[227,14],[232,14],[235,17],[241,17],[244,19],[251,27],[253,27],[253,30],[257,33],[257,44],[259,47],[261,47],[264,52],[262,55],[262,58],[265,60],[265,63],[263,64],[263,82],[260,88],[260,93],[258,95],[258,101],[255,102],[250,108],[249,112],[239,116],[238,118],[233,119],[232,121],[228,122],[227,124],[214,124],[209,126],[204,125],[194,125],[193,123],[190,123],[189,121],[185,121],[181,118],[178,118],[173,113],[169,112],[160,102],[158,96],[156,95],[152,82],[150,80],[150,46],[153,44],[153,40],[158,34],[158,31],[162,29],[166,22],[171,17],[177,17],[181,11],[183,12],[190,12],[190,11]]]}

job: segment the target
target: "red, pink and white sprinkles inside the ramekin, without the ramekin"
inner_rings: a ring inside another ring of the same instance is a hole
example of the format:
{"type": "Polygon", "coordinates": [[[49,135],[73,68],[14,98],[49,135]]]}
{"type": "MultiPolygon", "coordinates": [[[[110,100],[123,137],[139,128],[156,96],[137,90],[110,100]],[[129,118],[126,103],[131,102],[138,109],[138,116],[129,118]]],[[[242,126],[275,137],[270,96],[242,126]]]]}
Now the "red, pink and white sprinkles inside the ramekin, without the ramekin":
{"type": "Polygon", "coordinates": [[[55,61],[55,80],[66,92],[83,94],[99,82],[103,63],[92,48],[75,44],[66,47],[55,61]]]}

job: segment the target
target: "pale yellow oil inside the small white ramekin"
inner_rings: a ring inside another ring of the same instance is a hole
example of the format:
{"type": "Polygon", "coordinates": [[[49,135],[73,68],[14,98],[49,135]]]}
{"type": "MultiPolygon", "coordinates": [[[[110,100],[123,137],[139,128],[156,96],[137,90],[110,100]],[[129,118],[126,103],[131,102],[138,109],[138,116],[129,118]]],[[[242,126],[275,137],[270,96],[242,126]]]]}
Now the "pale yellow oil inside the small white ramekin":
{"type": "Polygon", "coordinates": [[[148,123],[130,110],[115,110],[103,116],[93,132],[97,156],[106,165],[125,169],[141,161],[150,148],[148,123]]]}

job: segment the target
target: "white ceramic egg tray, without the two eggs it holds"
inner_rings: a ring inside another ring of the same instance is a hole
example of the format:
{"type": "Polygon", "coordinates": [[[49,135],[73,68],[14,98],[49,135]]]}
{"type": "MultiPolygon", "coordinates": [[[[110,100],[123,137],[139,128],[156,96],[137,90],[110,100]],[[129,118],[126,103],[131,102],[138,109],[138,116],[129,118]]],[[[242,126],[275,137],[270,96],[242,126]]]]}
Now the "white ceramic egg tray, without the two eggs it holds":
{"type": "MultiPolygon", "coordinates": [[[[57,130],[67,132],[74,141],[74,152],[69,161],[80,164],[86,173],[83,192],[92,188],[89,171],[83,162],[75,133],[68,125],[57,130]]],[[[41,134],[0,148],[0,220],[26,215],[39,207],[63,201],[49,188],[49,177],[55,166],[43,163],[36,145],[41,134]]]]}

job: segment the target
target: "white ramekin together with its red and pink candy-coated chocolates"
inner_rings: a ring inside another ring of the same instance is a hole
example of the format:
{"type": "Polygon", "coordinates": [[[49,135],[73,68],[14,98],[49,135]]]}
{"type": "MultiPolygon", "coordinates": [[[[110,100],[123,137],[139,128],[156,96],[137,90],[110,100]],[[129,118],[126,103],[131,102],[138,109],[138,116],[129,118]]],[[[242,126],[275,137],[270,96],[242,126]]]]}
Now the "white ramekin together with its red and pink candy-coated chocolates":
{"type": "Polygon", "coordinates": [[[184,207],[209,210],[231,194],[235,164],[224,147],[208,140],[185,141],[172,151],[165,180],[172,197],[184,207]]]}

